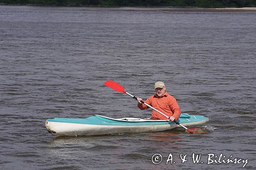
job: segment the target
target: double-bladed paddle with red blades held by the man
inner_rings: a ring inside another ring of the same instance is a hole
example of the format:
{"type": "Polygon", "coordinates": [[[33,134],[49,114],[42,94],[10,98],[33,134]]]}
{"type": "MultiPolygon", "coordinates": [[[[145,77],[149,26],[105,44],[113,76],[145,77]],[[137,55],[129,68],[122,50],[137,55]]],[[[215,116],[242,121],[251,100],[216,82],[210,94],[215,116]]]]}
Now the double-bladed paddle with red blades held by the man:
{"type": "MultiPolygon", "coordinates": [[[[105,85],[105,86],[108,86],[108,87],[110,87],[110,88],[112,88],[112,89],[114,89],[114,90],[116,90],[116,91],[118,91],[118,92],[122,92],[122,93],[128,94],[128,95],[130,95],[133,99],[136,99],[136,100],[137,100],[136,96],[130,94],[130,93],[127,92],[127,91],[125,91],[124,88],[123,88],[120,84],[118,84],[118,83],[116,83],[116,82],[114,82],[114,81],[108,80],[108,81],[106,81],[106,82],[104,83],[104,85],[105,85]]],[[[169,119],[169,117],[168,117],[167,115],[165,115],[164,113],[162,113],[162,112],[160,112],[159,110],[155,109],[154,107],[152,107],[152,106],[146,104],[146,103],[143,102],[143,101],[140,101],[140,102],[143,103],[144,105],[146,105],[147,107],[150,107],[151,109],[157,111],[158,113],[162,114],[163,116],[165,116],[166,118],[169,119]]],[[[173,120],[173,122],[176,123],[177,125],[179,125],[180,127],[184,128],[184,129],[187,130],[188,132],[190,132],[190,133],[195,133],[193,130],[184,127],[183,125],[181,125],[180,123],[178,123],[176,120],[173,120]]]]}

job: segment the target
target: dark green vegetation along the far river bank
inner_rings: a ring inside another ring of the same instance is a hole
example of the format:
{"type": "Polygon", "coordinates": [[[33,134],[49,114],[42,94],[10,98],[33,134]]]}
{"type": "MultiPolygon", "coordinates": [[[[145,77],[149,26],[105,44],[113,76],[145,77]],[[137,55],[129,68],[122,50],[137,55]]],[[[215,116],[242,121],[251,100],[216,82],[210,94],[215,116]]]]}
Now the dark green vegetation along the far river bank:
{"type": "Polygon", "coordinates": [[[111,7],[256,7],[256,0],[0,0],[1,5],[111,7]]]}

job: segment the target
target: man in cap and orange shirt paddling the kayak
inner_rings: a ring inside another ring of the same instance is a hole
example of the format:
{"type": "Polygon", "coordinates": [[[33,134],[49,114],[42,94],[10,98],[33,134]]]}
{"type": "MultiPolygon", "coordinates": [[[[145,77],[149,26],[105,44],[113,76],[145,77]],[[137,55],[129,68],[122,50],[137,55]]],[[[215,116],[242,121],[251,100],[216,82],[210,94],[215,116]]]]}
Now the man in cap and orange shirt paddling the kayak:
{"type": "MultiPolygon", "coordinates": [[[[156,94],[148,98],[145,101],[145,103],[147,103],[148,105],[151,105],[152,107],[161,111],[165,115],[169,116],[170,121],[177,120],[181,114],[180,107],[176,102],[176,99],[165,91],[164,83],[156,82],[155,91],[156,91],[156,94]]],[[[149,108],[140,102],[142,101],[141,98],[137,98],[137,100],[138,100],[138,107],[141,110],[149,108]]],[[[152,110],[151,119],[168,119],[168,118],[158,113],[157,111],[152,110]]]]}

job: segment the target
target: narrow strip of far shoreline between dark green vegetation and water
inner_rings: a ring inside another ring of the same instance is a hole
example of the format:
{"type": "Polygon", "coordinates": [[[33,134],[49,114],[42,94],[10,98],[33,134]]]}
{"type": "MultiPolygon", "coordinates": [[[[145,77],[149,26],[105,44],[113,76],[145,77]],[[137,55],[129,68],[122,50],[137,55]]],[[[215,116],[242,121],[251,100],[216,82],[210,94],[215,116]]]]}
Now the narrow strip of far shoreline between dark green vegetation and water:
{"type": "Polygon", "coordinates": [[[198,7],[110,7],[110,6],[39,6],[39,5],[6,5],[0,4],[0,6],[33,6],[33,7],[70,7],[70,8],[88,8],[88,10],[104,10],[108,8],[110,11],[145,11],[145,12],[245,12],[245,11],[255,11],[256,7],[243,7],[243,8],[198,8],[198,7]]]}

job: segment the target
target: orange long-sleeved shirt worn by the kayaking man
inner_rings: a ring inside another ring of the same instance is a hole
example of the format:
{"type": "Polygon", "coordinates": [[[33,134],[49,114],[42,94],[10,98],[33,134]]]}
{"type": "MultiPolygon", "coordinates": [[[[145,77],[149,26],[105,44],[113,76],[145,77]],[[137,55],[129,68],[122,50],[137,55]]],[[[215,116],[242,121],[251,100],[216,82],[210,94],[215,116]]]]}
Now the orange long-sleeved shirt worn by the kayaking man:
{"type": "MultiPolygon", "coordinates": [[[[166,116],[174,116],[175,120],[177,120],[180,117],[181,111],[178,103],[176,102],[176,99],[172,96],[169,95],[166,91],[164,95],[159,98],[156,94],[152,95],[150,98],[148,98],[145,103],[148,105],[151,105],[152,107],[156,108],[157,110],[161,111],[164,113],[166,116]]],[[[138,103],[138,107],[141,110],[147,109],[147,107],[144,104],[138,103]]],[[[162,114],[158,113],[155,110],[152,110],[152,119],[168,119],[162,114]]]]}

